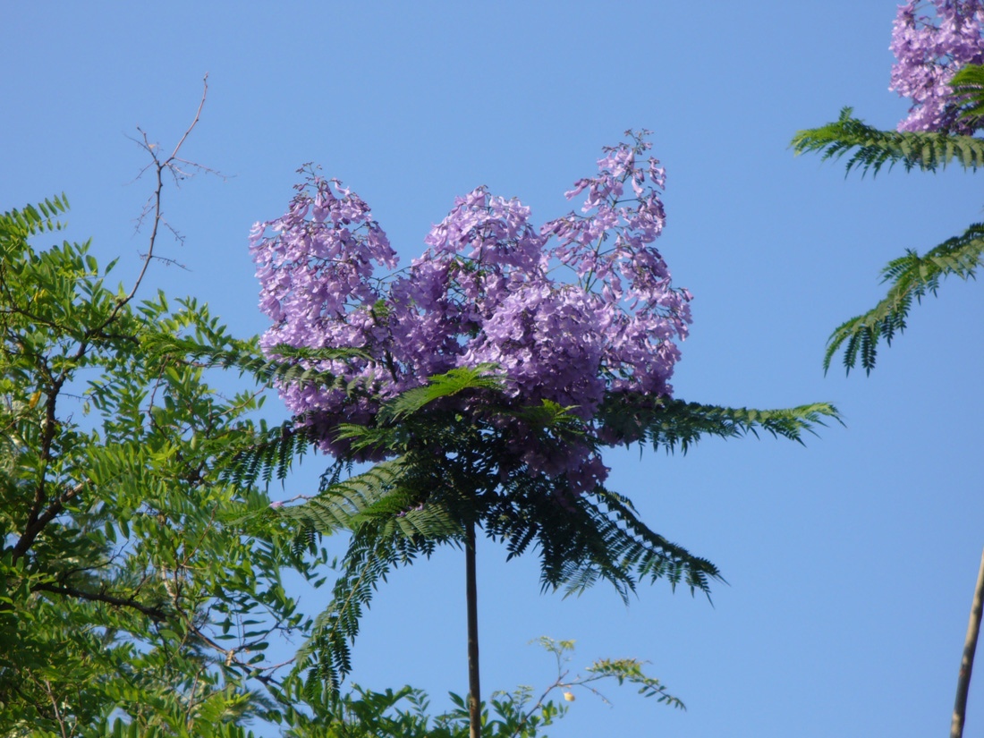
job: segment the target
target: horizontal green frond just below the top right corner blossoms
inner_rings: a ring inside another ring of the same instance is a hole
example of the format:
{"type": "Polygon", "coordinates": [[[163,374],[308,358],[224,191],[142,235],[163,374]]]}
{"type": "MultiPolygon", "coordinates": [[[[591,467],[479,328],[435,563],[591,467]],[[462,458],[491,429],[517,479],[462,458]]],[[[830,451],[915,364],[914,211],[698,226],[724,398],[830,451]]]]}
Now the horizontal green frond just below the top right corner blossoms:
{"type": "Polygon", "coordinates": [[[836,122],[799,131],[791,143],[795,153],[821,152],[825,160],[850,153],[848,173],[858,168],[862,174],[878,174],[885,164],[891,169],[897,163],[906,171],[935,171],[951,161],[964,169],[984,164],[984,140],[942,133],[880,131],[852,117],[851,112],[852,108],[845,107],[836,122]]]}

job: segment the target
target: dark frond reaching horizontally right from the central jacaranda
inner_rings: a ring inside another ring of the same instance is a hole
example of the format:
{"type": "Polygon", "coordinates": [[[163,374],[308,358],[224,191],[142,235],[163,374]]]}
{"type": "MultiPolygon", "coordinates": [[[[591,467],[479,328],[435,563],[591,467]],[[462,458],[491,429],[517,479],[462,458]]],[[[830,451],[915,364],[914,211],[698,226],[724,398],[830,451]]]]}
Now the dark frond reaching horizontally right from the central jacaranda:
{"type": "Polygon", "coordinates": [[[651,443],[669,452],[688,449],[702,436],[733,438],[763,430],[772,436],[803,442],[804,433],[816,434],[818,425],[831,418],[839,422],[837,409],[827,402],[798,407],[757,410],[748,407],[652,399],[637,394],[618,394],[606,398],[598,411],[604,428],[616,439],[651,443]]]}

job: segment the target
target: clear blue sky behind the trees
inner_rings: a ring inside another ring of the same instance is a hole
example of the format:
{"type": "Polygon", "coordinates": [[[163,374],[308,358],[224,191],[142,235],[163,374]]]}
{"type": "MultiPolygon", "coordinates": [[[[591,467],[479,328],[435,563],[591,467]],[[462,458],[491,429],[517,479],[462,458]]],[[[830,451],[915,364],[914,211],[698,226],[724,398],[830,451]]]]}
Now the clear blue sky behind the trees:
{"type": "MultiPolygon", "coordinates": [[[[984,545],[980,481],[984,287],[948,282],[871,377],[821,369],[824,343],[873,305],[878,272],[981,218],[959,170],[844,179],[795,158],[798,130],[853,105],[891,128],[892,0],[495,3],[0,3],[0,209],[66,192],[70,236],[137,268],[150,193],[136,126],[163,147],[210,92],[188,158],[229,175],[168,191],[187,272],[154,286],[262,332],[250,225],[279,215],[294,169],[322,164],[374,209],[404,260],[479,184],[546,219],[600,147],[652,130],[668,172],[660,248],[695,294],[674,379],[687,400],[830,400],[847,427],[807,448],[707,441],[686,457],[609,457],[612,487],[654,529],[717,564],[711,606],[657,584],[539,593],[535,559],[479,549],[483,687],[540,686],[526,642],[575,639],[577,663],[633,655],[688,705],[630,690],[583,696],[560,736],[946,734],[984,545]]],[[[978,175],[980,176],[980,175],[978,175]]],[[[277,400],[271,413],[280,412],[277,400]]],[[[316,461],[316,460],[315,460],[316,461]]],[[[275,497],[309,492],[319,470],[275,497]]],[[[337,545],[340,548],[340,541],[337,545]]],[[[316,599],[305,605],[313,612],[316,599]]],[[[455,551],[378,594],[353,679],[463,693],[463,565],[455,551]]],[[[966,735],[984,731],[984,658],[966,735]]]]}

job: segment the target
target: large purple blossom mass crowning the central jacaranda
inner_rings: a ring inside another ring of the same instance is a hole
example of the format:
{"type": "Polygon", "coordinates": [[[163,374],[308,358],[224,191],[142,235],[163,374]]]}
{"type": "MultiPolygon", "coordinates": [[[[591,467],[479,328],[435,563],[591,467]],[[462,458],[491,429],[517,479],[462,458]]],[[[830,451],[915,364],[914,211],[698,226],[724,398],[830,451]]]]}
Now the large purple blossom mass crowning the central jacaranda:
{"type": "MultiPolygon", "coordinates": [[[[348,452],[339,423],[366,423],[381,401],[429,376],[482,363],[498,365],[518,405],[551,400],[588,427],[606,393],[669,395],[691,294],[672,286],[652,245],[665,221],[665,172],[644,155],[646,133],[627,132],[629,143],[605,148],[597,174],[575,183],[567,197],[586,194],[581,213],[537,228],[520,201],[478,188],[400,271],[368,206],[338,180],[302,170],[288,212],[257,223],[251,248],[260,306],[274,324],[264,350],[357,347],[366,356],[317,366],[369,393],[280,388],[315,425],[322,450],[348,452]],[[388,273],[377,277],[377,267],[388,273]]],[[[607,474],[590,450],[597,440],[546,449],[518,426],[512,461],[590,489],[607,474]]]]}

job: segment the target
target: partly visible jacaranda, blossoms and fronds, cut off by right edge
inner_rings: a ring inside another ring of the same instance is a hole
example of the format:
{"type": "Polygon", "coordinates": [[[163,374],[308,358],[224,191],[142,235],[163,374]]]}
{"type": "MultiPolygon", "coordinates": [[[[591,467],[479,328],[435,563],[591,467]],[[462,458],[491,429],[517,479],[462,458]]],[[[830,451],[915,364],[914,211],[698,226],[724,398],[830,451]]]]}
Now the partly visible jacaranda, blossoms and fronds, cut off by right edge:
{"type": "MultiPolygon", "coordinates": [[[[936,171],[956,163],[976,171],[984,165],[984,139],[972,134],[981,127],[984,90],[984,5],[980,0],[933,0],[900,6],[892,31],[890,89],[912,99],[897,131],[880,131],[853,116],[845,107],[837,121],[800,131],[792,141],[796,154],[821,152],[825,159],[850,154],[847,171],[877,174],[885,164],[906,171],[936,171]],[[934,16],[920,15],[932,5],[934,16]],[[954,91],[954,86],[956,90],[954,91]]],[[[879,340],[905,330],[913,300],[936,294],[944,277],[974,277],[984,258],[984,223],[972,223],[962,233],[923,255],[907,249],[882,271],[890,282],[886,296],[871,310],[851,318],[831,334],[824,357],[825,371],[833,355],[844,349],[849,372],[860,358],[866,372],[875,367],[879,340]]]]}

